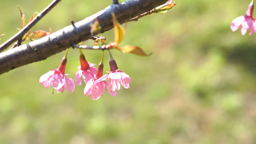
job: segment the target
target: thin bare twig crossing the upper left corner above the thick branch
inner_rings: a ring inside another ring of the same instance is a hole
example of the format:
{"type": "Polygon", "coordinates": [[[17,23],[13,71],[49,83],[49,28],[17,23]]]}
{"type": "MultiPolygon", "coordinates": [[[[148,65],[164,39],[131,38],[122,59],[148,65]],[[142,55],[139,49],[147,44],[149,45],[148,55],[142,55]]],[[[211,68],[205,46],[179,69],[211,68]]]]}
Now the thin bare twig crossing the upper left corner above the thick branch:
{"type": "Polygon", "coordinates": [[[26,32],[28,32],[40,19],[42,19],[53,7],[55,7],[61,0],[53,0],[42,12],[38,13],[36,18],[34,18],[30,23],[28,23],[22,30],[20,30],[17,34],[12,36],[6,42],[0,45],[0,52],[4,49],[8,48],[12,43],[16,40],[21,39],[26,32]]]}

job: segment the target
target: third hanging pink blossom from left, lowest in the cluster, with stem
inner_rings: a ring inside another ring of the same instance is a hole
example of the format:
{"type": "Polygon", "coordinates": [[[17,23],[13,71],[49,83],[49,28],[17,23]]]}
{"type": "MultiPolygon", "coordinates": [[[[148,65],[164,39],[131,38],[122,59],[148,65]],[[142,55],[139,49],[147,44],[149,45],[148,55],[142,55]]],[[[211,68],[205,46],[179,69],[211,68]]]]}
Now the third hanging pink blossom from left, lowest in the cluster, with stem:
{"type": "MultiPolygon", "coordinates": [[[[91,99],[93,100],[97,100],[100,98],[100,96],[103,96],[105,87],[107,86],[107,82],[105,81],[105,79],[103,79],[103,55],[102,54],[102,59],[101,62],[98,65],[98,71],[96,74],[96,77],[89,80],[87,82],[87,84],[85,85],[85,90],[84,90],[84,94],[85,96],[90,95],[91,99]]],[[[111,96],[116,96],[115,92],[110,92],[111,96]]]]}

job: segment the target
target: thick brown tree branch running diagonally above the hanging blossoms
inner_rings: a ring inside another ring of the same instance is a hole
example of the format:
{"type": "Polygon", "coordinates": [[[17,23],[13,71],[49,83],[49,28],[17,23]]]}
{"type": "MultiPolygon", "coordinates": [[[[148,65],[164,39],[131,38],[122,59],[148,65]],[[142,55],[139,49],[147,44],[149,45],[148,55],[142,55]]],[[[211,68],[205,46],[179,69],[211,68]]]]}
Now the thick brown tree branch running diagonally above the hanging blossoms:
{"type": "Polygon", "coordinates": [[[49,36],[2,52],[0,53],[0,74],[32,62],[45,60],[66,48],[72,47],[73,44],[78,44],[90,39],[92,37],[90,25],[94,24],[96,19],[98,19],[101,29],[94,32],[93,35],[96,36],[110,30],[113,28],[111,12],[114,12],[118,21],[123,24],[137,15],[164,4],[166,1],[167,0],[127,0],[120,4],[113,4],[49,36]]]}

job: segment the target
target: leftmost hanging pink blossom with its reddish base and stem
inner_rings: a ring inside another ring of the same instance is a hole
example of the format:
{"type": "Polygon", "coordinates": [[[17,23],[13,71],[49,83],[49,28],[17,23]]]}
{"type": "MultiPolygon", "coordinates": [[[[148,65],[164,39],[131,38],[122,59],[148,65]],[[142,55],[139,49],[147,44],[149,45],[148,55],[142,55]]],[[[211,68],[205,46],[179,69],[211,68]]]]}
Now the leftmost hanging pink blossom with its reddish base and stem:
{"type": "Polygon", "coordinates": [[[46,88],[52,86],[54,89],[57,89],[58,93],[64,92],[66,89],[69,93],[74,91],[74,81],[68,78],[67,74],[64,74],[67,63],[66,55],[67,52],[57,70],[53,69],[40,77],[40,84],[43,84],[46,88]]]}

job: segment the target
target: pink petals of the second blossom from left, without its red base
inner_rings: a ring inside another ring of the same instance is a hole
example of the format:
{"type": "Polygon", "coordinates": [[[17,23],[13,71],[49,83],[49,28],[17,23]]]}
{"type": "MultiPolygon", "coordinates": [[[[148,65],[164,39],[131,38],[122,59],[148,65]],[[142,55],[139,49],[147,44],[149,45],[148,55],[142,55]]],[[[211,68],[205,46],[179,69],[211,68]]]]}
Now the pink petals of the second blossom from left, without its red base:
{"type": "Polygon", "coordinates": [[[75,84],[76,85],[81,85],[82,84],[82,79],[81,76],[83,77],[85,84],[93,78],[95,78],[95,75],[97,73],[97,69],[94,67],[95,64],[89,63],[89,68],[82,70],[81,66],[78,67],[78,71],[75,73],[75,84]]]}

